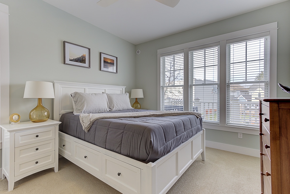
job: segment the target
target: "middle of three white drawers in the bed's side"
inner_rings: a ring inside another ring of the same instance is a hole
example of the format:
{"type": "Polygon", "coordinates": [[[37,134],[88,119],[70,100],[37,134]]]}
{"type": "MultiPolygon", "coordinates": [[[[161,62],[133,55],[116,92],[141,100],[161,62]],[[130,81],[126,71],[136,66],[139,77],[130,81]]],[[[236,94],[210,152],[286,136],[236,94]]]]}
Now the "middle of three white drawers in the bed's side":
{"type": "Polygon", "coordinates": [[[75,146],[75,159],[77,163],[99,173],[101,168],[101,152],[73,142],[75,146]]]}

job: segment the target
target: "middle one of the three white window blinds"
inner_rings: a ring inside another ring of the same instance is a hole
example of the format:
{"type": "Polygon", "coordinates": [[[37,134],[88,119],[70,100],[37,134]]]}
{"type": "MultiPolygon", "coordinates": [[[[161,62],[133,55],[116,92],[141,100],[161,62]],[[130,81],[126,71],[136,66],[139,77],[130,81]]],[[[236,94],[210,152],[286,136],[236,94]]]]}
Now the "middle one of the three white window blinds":
{"type": "Polygon", "coordinates": [[[220,121],[219,57],[220,46],[189,51],[189,110],[203,122],[220,121]]]}

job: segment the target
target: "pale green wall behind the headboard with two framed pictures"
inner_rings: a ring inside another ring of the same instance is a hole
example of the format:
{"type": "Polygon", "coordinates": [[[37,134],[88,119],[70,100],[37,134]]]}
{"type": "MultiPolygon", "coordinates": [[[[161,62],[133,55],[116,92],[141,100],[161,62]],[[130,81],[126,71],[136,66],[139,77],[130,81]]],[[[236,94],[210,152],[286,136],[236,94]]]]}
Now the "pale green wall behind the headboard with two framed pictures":
{"type": "MultiPolygon", "coordinates": [[[[37,99],[23,99],[26,81],[121,85],[126,86],[126,92],[135,88],[134,44],[44,1],[0,0],[0,3],[9,7],[10,14],[9,113],[20,114],[20,122],[29,121],[28,114],[37,105],[37,99]],[[63,41],[90,48],[91,68],[63,64],[63,41]],[[117,74],[99,71],[99,52],[118,57],[117,74]]],[[[43,99],[43,105],[53,119],[53,99],[43,99]]]]}

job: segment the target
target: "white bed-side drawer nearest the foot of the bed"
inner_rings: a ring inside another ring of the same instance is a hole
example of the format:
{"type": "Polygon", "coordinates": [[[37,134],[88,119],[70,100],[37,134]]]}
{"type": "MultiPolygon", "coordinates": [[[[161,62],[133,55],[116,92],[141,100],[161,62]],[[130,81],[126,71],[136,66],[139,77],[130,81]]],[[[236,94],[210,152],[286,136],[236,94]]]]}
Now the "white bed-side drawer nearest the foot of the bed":
{"type": "Polygon", "coordinates": [[[105,179],[127,187],[130,193],[141,192],[141,169],[107,155],[104,156],[105,179]]]}

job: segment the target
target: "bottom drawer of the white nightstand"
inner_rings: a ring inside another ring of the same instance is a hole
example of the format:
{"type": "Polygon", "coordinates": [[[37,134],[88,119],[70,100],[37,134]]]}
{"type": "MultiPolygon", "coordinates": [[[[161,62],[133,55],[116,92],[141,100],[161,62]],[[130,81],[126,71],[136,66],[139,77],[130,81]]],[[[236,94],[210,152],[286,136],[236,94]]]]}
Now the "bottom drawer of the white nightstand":
{"type": "Polygon", "coordinates": [[[14,176],[18,176],[55,162],[55,151],[15,162],[14,176]]]}

